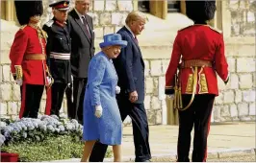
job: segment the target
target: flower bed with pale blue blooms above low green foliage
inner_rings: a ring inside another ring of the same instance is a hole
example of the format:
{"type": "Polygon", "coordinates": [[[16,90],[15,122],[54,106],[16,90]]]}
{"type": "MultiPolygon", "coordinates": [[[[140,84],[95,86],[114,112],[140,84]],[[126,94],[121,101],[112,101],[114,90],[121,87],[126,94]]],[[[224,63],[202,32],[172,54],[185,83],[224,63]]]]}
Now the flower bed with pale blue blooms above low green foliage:
{"type": "Polygon", "coordinates": [[[38,119],[2,119],[0,127],[1,151],[18,153],[22,162],[82,157],[83,126],[76,120],[43,115],[38,119]]]}

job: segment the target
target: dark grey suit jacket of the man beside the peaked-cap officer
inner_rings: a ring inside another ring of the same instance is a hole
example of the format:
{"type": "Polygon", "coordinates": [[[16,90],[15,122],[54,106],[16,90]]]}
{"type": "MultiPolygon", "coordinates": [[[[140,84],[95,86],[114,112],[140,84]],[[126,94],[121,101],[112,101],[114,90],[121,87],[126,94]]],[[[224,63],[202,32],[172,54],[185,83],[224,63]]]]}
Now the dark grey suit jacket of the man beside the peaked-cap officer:
{"type": "Polygon", "coordinates": [[[93,23],[90,15],[86,15],[87,23],[90,29],[91,39],[75,10],[68,13],[67,24],[69,26],[71,37],[71,71],[72,75],[77,78],[88,78],[88,67],[90,58],[93,57],[94,32],[93,23]]]}

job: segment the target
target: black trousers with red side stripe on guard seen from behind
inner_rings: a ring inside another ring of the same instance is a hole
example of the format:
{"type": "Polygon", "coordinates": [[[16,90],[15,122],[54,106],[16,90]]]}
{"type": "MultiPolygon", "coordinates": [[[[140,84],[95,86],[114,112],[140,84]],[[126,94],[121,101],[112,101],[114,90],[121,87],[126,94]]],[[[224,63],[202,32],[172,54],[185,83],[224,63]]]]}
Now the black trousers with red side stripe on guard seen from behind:
{"type": "MultiPolygon", "coordinates": [[[[191,132],[194,128],[192,162],[205,162],[207,137],[216,95],[195,95],[192,105],[179,111],[178,162],[190,162],[191,132]]],[[[183,105],[188,105],[192,95],[182,95],[183,105]]]]}

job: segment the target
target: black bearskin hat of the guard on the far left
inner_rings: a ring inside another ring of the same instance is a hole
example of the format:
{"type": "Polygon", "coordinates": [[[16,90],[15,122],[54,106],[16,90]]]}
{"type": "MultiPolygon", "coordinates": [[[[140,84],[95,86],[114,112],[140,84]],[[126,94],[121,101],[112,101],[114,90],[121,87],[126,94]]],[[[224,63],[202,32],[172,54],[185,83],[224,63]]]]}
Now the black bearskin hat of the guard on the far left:
{"type": "Polygon", "coordinates": [[[30,17],[43,13],[43,6],[41,0],[36,1],[14,1],[16,16],[19,24],[25,25],[29,23],[30,17]]]}

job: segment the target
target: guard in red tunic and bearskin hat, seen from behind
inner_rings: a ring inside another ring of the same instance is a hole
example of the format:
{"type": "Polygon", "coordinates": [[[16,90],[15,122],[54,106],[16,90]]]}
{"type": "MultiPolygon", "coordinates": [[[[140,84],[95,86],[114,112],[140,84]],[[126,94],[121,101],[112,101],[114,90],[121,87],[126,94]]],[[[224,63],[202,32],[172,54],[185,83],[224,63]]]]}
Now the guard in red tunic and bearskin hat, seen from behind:
{"type": "Polygon", "coordinates": [[[194,24],[179,30],[174,40],[166,71],[166,95],[174,97],[174,108],[179,110],[177,161],[190,162],[194,127],[192,161],[204,162],[212,109],[218,96],[216,72],[223,82],[228,82],[228,64],[223,35],[207,25],[215,16],[216,2],[188,0],[186,12],[194,24]]]}

